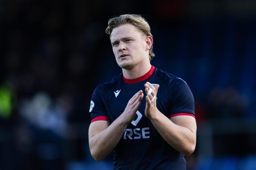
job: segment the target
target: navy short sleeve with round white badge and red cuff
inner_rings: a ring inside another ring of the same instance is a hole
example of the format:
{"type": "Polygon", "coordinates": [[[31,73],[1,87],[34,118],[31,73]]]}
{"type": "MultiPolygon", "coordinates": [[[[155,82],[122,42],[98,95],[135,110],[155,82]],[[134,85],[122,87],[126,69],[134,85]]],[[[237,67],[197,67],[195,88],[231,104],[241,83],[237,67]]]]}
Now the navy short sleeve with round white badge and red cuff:
{"type": "Polygon", "coordinates": [[[96,87],[96,89],[93,92],[89,112],[91,114],[90,122],[92,122],[92,120],[96,117],[101,118],[102,120],[108,119],[106,107],[104,105],[104,102],[102,100],[102,96],[100,94],[100,90],[98,87],[96,87]]]}

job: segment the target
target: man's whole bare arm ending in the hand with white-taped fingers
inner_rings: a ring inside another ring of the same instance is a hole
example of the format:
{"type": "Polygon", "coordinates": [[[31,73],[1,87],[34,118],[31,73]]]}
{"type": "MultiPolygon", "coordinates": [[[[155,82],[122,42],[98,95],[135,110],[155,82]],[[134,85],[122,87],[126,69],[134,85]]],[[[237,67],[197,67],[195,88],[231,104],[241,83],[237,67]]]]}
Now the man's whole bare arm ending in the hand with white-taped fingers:
{"type": "Polygon", "coordinates": [[[196,143],[196,122],[192,116],[175,116],[167,118],[156,107],[156,98],[151,102],[153,96],[157,94],[159,85],[155,87],[152,84],[145,84],[146,93],[149,88],[153,91],[149,96],[146,96],[145,115],[150,119],[159,134],[171,145],[175,150],[183,155],[190,155],[195,150],[196,143]]]}

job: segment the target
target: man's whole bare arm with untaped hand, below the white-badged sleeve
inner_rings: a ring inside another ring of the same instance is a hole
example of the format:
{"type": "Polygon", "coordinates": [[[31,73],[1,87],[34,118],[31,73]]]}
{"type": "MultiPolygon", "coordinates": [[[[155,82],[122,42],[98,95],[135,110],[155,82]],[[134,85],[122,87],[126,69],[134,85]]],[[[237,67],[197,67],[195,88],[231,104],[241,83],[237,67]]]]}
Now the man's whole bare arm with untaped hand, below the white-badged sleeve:
{"type": "Polygon", "coordinates": [[[89,127],[89,146],[93,158],[104,159],[116,146],[127,124],[133,121],[143,98],[142,90],[128,102],[124,112],[110,124],[109,121],[94,121],[89,127]]]}

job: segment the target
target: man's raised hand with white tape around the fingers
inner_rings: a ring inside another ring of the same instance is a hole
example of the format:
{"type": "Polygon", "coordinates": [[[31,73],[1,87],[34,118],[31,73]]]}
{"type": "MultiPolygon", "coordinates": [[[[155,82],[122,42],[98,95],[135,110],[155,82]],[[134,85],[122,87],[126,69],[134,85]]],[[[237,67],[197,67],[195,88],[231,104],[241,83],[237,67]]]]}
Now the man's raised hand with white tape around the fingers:
{"type": "Polygon", "coordinates": [[[159,88],[159,84],[157,84],[154,87],[151,83],[147,82],[146,84],[144,84],[144,86],[145,86],[146,93],[149,92],[150,88],[152,89],[152,92],[150,93],[150,95],[146,96],[146,108],[145,108],[145,116],[147,118],[152,118],[153,115],[156,115],[159,112],[156,107],[156,94],[159,88]],[[155,96],[155,99],[151,102],[154,96],[155,96]]]}

